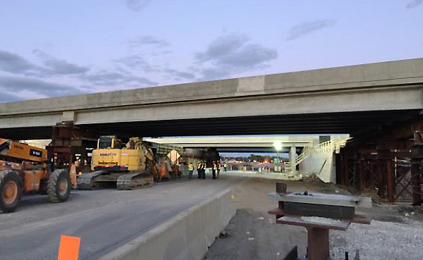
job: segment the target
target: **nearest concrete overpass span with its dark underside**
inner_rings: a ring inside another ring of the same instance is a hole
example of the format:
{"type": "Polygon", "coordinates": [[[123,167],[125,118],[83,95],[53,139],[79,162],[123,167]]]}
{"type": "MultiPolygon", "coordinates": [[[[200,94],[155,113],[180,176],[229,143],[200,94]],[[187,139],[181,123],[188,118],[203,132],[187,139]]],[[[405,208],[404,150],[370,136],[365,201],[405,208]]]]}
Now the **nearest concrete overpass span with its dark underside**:
{"type": "Polygon", "coordinates": [[[0,136],[350,133],[419,117],[423,58],[0,104],[0,136]]]}

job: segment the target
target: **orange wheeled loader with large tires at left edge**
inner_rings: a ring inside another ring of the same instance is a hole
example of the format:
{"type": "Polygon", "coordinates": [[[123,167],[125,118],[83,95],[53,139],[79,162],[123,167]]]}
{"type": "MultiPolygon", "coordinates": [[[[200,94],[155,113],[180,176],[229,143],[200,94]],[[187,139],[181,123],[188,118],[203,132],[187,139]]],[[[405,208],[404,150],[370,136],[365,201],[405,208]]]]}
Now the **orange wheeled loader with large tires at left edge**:
{"type": "Polygon", "coordinates": [[[50,202],[65,202],[71,194],[68,170],[52,171],[47,150],[0,138],[0,210],[13,212],[23,194],[48,194],[50,202]]]}

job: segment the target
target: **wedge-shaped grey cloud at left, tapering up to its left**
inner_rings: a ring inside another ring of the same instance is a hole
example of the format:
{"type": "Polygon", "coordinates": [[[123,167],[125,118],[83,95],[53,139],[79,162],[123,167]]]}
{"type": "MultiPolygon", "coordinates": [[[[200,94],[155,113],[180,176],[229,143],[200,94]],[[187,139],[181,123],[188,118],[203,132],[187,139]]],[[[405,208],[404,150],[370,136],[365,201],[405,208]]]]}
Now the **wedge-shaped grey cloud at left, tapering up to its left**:
{"type": "Polygon", "coordinates": [[[73,63],[68,63],[59,58],[46,54],[44,51],[35,49],[32,51],[33,54],[42,58],[44,66],[48,67],[48,73],[50,75],[68,75],[68,74],[80,74],[86,73],[90,68],[78,66],[73,63]]]}

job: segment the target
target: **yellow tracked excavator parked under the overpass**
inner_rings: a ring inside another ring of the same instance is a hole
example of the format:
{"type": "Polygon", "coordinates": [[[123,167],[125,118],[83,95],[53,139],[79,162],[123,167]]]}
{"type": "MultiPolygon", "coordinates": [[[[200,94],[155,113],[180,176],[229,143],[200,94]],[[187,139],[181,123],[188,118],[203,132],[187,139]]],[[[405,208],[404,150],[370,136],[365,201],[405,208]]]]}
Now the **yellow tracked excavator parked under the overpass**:
{"type": "Polygon", "coordinates": [[[102,136],[92,151],[90,173],[78,176],[79,190],[116,185],[118,190],[135,190],[152,185],[159,178],[154,153],[138,137],[123,147],[116,136],[102,136]]]}

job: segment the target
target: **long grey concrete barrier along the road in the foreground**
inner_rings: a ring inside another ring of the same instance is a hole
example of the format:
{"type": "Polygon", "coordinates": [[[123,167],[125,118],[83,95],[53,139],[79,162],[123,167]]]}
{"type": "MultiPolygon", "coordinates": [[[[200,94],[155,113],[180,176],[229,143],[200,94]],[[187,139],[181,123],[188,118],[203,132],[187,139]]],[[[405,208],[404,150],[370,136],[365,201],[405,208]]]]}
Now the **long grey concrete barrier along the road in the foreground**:
{"type": "Polygon", "coordinates": [[[231,189],[225,190],[100,260],[201,260],[235,212],[231,189]]]}

